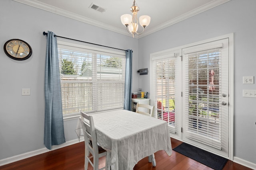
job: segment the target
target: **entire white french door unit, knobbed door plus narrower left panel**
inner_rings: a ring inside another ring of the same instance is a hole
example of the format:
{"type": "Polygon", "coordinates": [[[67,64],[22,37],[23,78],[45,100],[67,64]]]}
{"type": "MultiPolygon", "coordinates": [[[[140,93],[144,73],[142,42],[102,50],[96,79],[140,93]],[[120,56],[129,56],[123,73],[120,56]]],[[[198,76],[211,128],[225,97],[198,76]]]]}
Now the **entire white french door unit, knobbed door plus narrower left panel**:
{"type": "Polygon", "coordinates": [[[171,137],[231,160],[232,43],[224,35],[150,54],[154,116],[171,137]]]}

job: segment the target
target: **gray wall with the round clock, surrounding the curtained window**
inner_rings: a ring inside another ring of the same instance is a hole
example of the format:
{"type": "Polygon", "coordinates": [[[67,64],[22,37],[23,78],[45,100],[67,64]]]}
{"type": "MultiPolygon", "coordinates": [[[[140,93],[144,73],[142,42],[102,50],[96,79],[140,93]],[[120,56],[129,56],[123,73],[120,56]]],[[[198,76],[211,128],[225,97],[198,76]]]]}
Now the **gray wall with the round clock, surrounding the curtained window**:
{"type": "MultiPolygon", "coordinates": [[[[48,30],[63,37],[118,49],[132,49],[133,88],[138,88],[138,39],[12,0],[1,0],[0,160],[44,148],[44,67],[47,37],[42,33],[48,30]],[[9,39],[22,39],[29,43],[32,56],[25,61],[7,57],[3,46],[9,39]],[[31,95],[21,96],[22,88],[30,88],[31,95]]],[[[64,121],[66,141],[77,139],[74,132],[76,122],[76,119],[64,121]]]]}

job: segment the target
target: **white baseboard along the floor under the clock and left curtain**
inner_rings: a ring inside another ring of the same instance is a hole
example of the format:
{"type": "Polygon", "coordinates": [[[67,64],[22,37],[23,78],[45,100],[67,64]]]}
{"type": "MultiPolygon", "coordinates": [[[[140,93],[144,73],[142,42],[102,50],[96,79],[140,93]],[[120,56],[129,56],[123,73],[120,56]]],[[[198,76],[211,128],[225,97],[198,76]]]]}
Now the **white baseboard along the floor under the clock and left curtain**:
{"type": "Polygon", "coordinates": [[[74,139],[72,141],[68,141],[68,142],[63,143],[61,145],[54,145],[54,146],[52,146],[51,150],[49,150],[47,148],[42,148],[42,149],[38,149],[38,150],[33,150],[31,152],[26,152],[26,153],[23,153],[23,154],[15,155],[15,156],[12,156],[12,157],[9,157],[9,158],[4,158],[4,159],[0,160],[0,166],[10,164],[12,162],[16,162],[16,161],[19,161],[19,160],[22,160],[22,159],[30,158],[32,156],[36,156],[36,155],[39,155],[39,154],[42,154],[42,153],[50,152],[52,150],[60,149],[60,148],[67,147],[67,146],[70,146],[70,145],[74,145],[74,144],[79,143],[81,141],[84,141],[84,137],[81,137],[80,141],[78,141],[78,139],[74,139]]]}

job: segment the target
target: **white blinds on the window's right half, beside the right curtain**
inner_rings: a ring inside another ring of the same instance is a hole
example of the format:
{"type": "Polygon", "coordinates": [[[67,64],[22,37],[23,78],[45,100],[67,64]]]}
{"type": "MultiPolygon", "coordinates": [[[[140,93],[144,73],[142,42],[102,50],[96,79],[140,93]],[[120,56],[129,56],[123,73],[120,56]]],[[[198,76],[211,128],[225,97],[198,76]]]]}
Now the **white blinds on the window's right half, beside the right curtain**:
{"type": "Polygon", "coordinates": [[[97,55],[98,110],[124,106],[125,59],[97,55]]]}

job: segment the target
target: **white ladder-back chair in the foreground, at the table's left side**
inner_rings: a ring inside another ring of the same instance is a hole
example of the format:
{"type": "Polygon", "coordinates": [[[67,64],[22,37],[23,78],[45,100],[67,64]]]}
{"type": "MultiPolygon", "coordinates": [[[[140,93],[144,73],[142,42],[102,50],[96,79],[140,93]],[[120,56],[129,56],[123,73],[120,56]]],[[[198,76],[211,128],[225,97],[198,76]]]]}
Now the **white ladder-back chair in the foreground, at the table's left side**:
{"type": "Polygon", "coordinates": [[[81,112],[81,117],[79,119],[84,132],[84,170],[88,170],[88,162],[90,162],[90,164],[92,165],[93,170],[106,170],[108,167],[107,151],[100,147],[97,143],[97,137],[92,116],[81,112]],[[106,164],[105,167],[99,169],[99,158],[101,158],[102,156],[106,156],[106,164]],[[90,160],[90,158],[93,158],[93,162],[90,160]]]}

